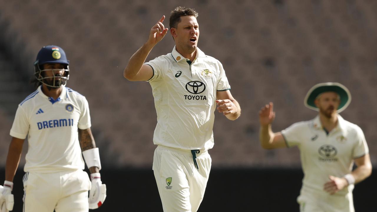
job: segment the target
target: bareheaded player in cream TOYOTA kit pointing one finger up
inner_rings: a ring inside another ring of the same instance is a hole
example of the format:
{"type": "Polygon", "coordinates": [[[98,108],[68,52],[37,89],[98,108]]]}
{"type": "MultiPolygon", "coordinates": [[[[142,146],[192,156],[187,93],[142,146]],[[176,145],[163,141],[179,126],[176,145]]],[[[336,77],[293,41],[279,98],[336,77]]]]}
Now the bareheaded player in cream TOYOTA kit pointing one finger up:
{"type": "Polygon", "coordinates": [[[211,169],[214,111],[230,120],[241,114],[222,64],[197,47],[197,17],[193,9],[175,8],[169,20],[172,52],[144,63],[168,31],[162,16],[124,69],[128,80],[149,81],[152,87],[157,112],[153,143],[158,145],[153,171],[165,212],[198,210],[211,169]]]}

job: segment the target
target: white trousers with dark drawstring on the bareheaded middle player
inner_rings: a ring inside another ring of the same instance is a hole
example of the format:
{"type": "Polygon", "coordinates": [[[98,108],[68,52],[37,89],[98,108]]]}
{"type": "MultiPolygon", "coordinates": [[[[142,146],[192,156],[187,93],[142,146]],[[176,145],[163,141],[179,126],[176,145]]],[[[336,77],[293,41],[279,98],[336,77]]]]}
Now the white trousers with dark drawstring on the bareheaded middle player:
{"type": "Polygon", "coordinates": [[[153,157],[158,192],[164,212],[196,212],[203,200],[212,159],[207,151],[196,154],[199,170],[190,150],[158,145],[153,157]]]}

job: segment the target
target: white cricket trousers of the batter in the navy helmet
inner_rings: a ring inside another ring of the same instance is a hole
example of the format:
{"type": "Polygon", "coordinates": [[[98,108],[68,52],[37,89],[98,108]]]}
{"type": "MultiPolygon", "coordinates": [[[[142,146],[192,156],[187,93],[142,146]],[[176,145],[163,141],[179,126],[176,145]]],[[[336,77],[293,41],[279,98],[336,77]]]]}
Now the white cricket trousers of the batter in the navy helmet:
{"type": "Polygon", "coordinates": [[[83,170],[54,173],[26,172],[23,212],[88,212],[92,186],[83,170]]]}

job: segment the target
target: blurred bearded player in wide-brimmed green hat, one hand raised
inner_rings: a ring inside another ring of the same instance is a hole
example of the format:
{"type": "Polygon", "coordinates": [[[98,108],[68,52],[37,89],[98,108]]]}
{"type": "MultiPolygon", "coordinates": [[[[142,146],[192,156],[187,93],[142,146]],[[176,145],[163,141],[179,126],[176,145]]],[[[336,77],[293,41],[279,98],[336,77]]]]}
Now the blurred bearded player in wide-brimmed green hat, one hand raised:
{"type": "Polygon", "coordinates": [[[338,113],[351,102],[351,94],[340,83],[316,84],[304,104],[319,111],[310,121],[295,123],[273,133],[273,104],[259,112],[259,139],[265,149],[297,146],[304,172],[297,202],[301,212],[354,212],[354,184],[369,177],[372,165],[363,131],[338,113]],[[357,168],[352,171],[353,164],[357,168]]]}

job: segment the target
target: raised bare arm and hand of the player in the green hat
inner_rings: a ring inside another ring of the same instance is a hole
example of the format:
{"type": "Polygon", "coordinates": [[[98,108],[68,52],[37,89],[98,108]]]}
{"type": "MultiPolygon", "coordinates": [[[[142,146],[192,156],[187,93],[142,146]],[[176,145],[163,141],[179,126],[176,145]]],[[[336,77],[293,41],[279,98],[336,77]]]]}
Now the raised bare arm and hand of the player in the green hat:
{"type": "Polygon", "coordinates": [[[259,123],[261,129],[259,130],[259,141],[264,149],[276,149],[287,147],[284,137],[280,132],[274,133],[271,124],[275,119],[274,104],[266,104],[261,111],[259,111],[259,123]]]}

